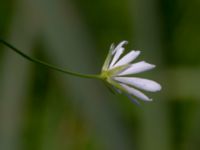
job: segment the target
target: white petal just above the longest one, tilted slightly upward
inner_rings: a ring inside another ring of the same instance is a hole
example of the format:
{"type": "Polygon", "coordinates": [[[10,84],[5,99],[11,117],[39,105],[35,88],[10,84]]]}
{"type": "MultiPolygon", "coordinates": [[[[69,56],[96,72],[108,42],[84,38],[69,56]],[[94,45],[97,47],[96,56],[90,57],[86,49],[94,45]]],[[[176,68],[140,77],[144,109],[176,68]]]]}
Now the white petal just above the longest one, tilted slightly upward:
{"type": "Polygon", "coordinates": [[[119,74],[119,76],[130,75],[130,74],[136,74],[136,73],[144,72],[144,71],[153,69],[154,67],[155,67],[155,65],[146,63],[145,61],[141,61],[141,62],[132,64],[129,68],[127,68],[126,70],[124,70],[123,72],[121,72],[119,74]]]}

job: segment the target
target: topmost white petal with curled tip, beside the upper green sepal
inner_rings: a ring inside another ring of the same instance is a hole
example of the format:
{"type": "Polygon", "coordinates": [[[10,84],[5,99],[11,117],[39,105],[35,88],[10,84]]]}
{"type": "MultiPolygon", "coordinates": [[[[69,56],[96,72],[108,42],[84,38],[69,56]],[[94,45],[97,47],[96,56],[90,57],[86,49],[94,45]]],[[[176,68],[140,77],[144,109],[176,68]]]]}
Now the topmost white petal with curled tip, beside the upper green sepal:
{"type": "Polygon", "coordinates": [[[119,59],[119,57],[121,56],[121,54],[124,52],[124,48],[122,47],[124,44],[127,44],[128,42],[127,41],[122,41],[121,43],[119,43],[118,45],[117,45],[117,47],[115,48],[115,50],[113,51],[113,60],[112,60],[112,62],[111,62],[111,64],[110,64],[110,67],[109,67],[109,69],[110,68],[112,68],[113,67],[113,65],[116,63],[116,61],[119,59]]]}

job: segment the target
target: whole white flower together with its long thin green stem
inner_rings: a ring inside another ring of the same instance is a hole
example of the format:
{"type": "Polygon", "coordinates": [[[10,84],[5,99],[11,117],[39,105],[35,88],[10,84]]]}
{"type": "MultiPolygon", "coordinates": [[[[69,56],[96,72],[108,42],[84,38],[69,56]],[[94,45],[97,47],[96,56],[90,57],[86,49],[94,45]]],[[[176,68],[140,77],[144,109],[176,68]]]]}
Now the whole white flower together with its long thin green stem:
{"type": "Polygon", "coordinates": [[[99,79],[105,83],[105,85],[114,92],[123,93],[128,96],[133,102],[138,104],[135,98],[143,101],[151,101],[152,99],[147,97],[143,91],[157,92],[161,90],[161,85],[157,82],[149,79],[143,79],[139,77],[133,77],[132,75],[145,72],[155,68],[155,65],[149,64],[145,61],[140,61],[138,63],[132,63],[139,55],[139,50],[132,50],[128,54],[122,56],[124,52],[124,45],[127,41],[120,42],[116,47],[114,44],[111,45],[107,58],[103,64],[100,74],[81,74],[51,65],[49,63],[43,62],[41,60],[32,58],[24,54],[19,49],[15,48],[8,42],[0,40],[0,43],[9,47],[11,50],[15,51],[17,54],[21,55],[25,59],[37,63],[39,65],[48,67],[50,69],[69,74],[72,76],[77,76],[81,78],[89,79],[99,79]],[[122,56],[122,57],[121,57],[122,56]]]}

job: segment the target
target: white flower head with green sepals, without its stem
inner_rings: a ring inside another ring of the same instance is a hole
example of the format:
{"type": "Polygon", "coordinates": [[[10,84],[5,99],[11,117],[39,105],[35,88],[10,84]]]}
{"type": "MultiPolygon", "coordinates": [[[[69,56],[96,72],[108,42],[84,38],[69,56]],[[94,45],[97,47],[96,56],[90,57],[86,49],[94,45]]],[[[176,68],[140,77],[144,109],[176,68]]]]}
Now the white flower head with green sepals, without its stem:
{"type": "Polygon", "coordinates": [[[125,50],[123,46],[127,43],[127,41],[122,41],[116,47],[113,44],[111,45],[102,67],[101,78],[104,79],[108,87],[112,87],[119,93],[124,93],[134,102],[137,102],[134,97],[143,101],[151,101],[152,99],[140,90],[157,92],[161,90],[160,84],[149,79],[132,77],[131,75],[151,70],[155,68],[155,65],[145,61],[132,63],[140,55],[139,50],[132,50],[121,57],[125,50]]]}

